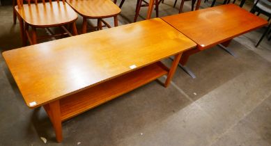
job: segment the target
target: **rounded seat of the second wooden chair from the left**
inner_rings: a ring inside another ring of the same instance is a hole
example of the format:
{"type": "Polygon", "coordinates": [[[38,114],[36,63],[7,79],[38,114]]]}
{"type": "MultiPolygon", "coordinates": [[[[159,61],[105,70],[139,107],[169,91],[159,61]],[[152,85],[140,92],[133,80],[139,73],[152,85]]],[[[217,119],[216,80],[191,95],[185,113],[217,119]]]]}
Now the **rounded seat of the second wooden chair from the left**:
{"type": "Polygon", "coordinates": [[[67,3],[79,15],[91,19],[113,17],[121,13],[121,9],[111,0],[68,0],[67,3]]]}

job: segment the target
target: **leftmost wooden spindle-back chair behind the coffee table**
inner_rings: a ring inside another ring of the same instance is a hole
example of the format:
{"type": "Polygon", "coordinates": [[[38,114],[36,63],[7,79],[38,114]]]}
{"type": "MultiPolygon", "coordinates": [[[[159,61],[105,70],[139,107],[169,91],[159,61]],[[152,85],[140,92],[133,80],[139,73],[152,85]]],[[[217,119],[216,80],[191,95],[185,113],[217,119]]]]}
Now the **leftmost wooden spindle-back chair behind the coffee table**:
{"type": "Polygon", "coordinates": [[[77,13],[65,3],[65,0],[38,3],[38,0],[27,0],[27,4],[23,4],[23,0],[17,0],[15,11],[20,22],[20,31],[23,45],[26,45],[26,39],[30,44],[36,44],[38,39],[52,38],[63,35],[72,35],[65,26],[72,26],[73,35],[77,35],[75,21],[77,13]],[[31,3],[34,1],[35,3],[31,3]],[[29,31],[31,26],[31,31],[29,31]],[[60,27],[65,33],[54,34],[49,28],[60,27]],[[36,29],[44,28],[51,33],[49,36],[37,38],[36,29]]]}

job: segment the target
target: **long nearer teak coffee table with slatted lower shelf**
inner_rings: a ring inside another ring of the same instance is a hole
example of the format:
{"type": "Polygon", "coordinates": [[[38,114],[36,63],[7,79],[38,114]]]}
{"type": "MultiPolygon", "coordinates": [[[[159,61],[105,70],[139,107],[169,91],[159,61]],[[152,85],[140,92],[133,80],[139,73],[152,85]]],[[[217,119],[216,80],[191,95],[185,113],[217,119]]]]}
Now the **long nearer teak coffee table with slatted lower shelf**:
{"type": "Polygon", "coordinates": [[[196,43],[162,19],[3,52],[29,108],[43,106],[61,142],[61,122],[167,75],[196,43]],[[168,69],[160,60],[175,56],[168,69]]]}

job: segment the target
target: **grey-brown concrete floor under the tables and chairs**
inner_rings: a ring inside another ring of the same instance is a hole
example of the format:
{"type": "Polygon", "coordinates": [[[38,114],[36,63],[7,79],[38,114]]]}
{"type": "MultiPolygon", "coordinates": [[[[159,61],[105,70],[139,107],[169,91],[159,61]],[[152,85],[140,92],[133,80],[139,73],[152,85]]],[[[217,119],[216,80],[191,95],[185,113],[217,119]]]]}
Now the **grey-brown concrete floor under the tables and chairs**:
{"type": "MultiPolygon", "coordinates": [[[[135,2],[126,1],[120,24],[132,22],[135,2]]],[[[161,16],[178,13],[173,2],[165,0],[161,16]]],[[[184,11],[189,11],[189,2],[184,11]]],[[[146,16],[146,8],[141,14],[146,16]]],[[[0,7],[0,20],[0,51],[21,47],[11,6],[0,7]]],[[[80,18],[78,29],[81,23],[80,18]]],[[[31,110],[24,104],[0,56],[0,146],[271,145],[271,42],[265,38],[254,47],[263,31],[235,38],[230,47],[236,58],[219,47],[192,56],[187,66],[196,79],[178,68],[169,88],[153,81],[64,122],[63,143],[56,143],[43,108],[31,110]]],[[[170,65],[171,60],[163,62],[170,65]]]]}

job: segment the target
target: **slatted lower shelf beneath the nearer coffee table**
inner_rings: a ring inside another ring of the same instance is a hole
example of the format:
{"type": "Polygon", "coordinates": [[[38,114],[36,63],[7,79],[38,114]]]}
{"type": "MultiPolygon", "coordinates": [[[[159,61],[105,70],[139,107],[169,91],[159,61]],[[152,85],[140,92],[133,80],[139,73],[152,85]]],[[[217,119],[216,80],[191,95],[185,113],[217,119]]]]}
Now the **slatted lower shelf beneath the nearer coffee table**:
{"type": "Polygon", "coordinates": [[[169,72],[161,62],[129,72],[60,100],[61,120],[68,120],[95,106],[139,88],[169,72]]]}

